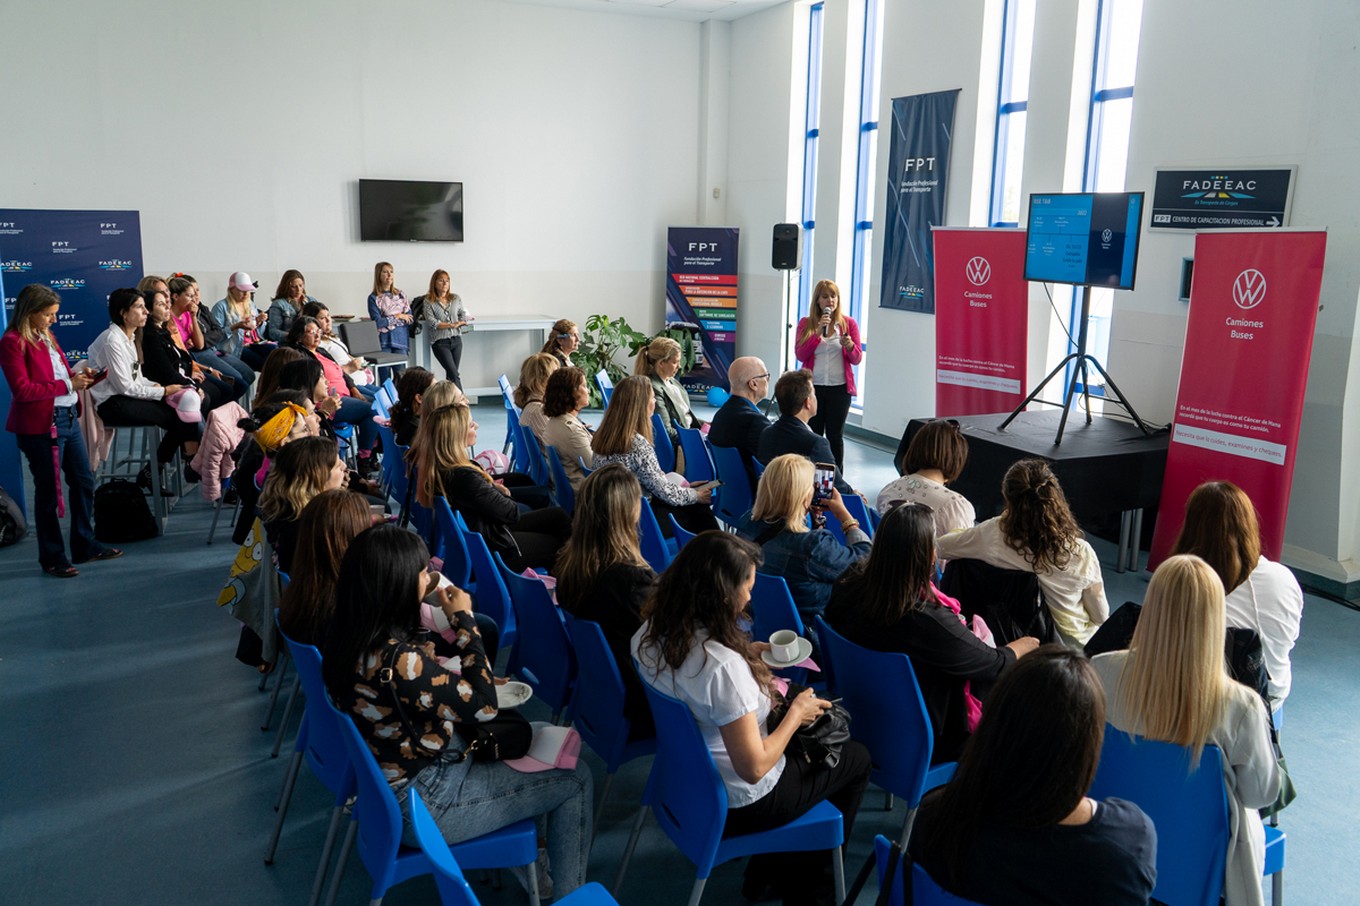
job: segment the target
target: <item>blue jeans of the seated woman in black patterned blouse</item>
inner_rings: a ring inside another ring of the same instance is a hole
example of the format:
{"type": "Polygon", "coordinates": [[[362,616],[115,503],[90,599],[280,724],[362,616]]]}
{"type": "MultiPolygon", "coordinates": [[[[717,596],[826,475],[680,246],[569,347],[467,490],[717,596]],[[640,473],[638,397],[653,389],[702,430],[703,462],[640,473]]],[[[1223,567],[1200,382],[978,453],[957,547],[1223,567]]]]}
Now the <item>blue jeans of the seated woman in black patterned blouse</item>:
{"type": "MultiPolygon", "coordinates": [[[[415,785],[450,843],[490,834],[525,818],[539,818],[541,830],[545,818],[554,896],[586,883],[594,779],[583,760],[574,771],[522,774],[500,762],[469,759],[458,765],[446,756],[416,774],[415,785]]],[[[404,796],[401,801],[405,811],[404,796]]]]}

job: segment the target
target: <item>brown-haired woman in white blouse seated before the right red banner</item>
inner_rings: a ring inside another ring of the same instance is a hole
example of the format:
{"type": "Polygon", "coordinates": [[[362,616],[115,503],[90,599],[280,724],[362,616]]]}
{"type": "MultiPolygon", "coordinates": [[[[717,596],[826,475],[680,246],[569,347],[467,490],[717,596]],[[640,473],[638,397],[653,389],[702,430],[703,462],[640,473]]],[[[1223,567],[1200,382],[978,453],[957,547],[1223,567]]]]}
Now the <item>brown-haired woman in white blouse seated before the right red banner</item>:
{"type": "Polygon", "coordinates": [[[1289,695],[1289,652],[1303,622],[1303,589],[1282,563],[1261,552],[1261,524],[1246,491],[1205,482],[1186,501],[1186,521],[1172,554],[1204,559],[1228,589],[1228,626],[1254,628],[1270,673],[1270,707],[1289,695]]]}

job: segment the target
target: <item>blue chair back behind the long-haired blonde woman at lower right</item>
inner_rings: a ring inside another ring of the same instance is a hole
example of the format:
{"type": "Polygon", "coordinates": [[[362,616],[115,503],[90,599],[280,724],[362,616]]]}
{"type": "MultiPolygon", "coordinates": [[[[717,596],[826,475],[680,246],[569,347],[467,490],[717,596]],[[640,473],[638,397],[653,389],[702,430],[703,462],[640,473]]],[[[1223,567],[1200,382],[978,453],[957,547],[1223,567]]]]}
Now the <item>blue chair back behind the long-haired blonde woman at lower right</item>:
{"type": "Polygon", "coordinates": [[[1157,886],[1163,903],[1217,903],[1228,854],[1228,794],[1223,754],[1205,745],[1190,770],[1190,750],[1130,736],[1106,725],[1093,799],[1118,796],[1157,828],[1157,886]]]}

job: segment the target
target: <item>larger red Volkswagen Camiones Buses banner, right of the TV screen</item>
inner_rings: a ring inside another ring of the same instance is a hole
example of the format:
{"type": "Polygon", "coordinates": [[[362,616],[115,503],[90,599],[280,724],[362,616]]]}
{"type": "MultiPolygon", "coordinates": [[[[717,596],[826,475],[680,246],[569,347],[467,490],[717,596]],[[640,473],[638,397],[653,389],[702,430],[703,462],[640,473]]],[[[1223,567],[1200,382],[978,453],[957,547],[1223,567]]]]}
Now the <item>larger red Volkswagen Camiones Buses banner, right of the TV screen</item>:
{"type": "Polygon", "coordinates": [[[1239,486],[1280,559],[1318,320],[1321,231],[1200,233],[1180,386],[1148,569],[1160,563],[1204,482],[1239,486]]]}

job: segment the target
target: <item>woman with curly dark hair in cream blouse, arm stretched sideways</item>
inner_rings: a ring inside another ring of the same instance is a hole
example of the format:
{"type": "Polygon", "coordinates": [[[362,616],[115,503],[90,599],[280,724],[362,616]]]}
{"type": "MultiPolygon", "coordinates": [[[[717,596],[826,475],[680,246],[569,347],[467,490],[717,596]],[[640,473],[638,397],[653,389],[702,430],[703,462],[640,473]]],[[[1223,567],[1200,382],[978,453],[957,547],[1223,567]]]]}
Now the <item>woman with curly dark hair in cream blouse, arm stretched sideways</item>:
{"type": "Polygon", "coordinates": [[[936,555],[974,558],[1039,578],[1062,639],[1085,645],[1110,616],[1100,560],[1072,517],[1058,477],[1043,460],[1020,460],[1001,480],[1001,516],[936,541],[936,555]]]}

